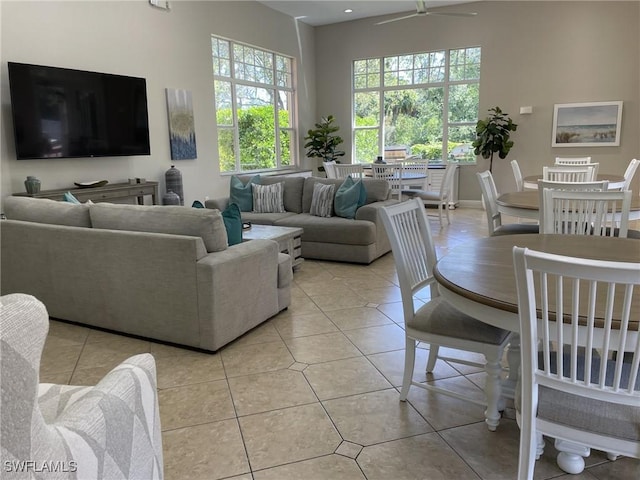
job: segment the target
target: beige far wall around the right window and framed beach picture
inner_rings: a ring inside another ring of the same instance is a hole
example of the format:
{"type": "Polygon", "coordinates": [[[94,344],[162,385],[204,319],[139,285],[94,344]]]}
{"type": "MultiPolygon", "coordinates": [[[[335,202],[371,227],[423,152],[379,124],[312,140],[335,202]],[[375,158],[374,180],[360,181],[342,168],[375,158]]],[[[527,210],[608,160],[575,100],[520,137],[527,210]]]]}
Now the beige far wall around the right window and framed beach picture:
{"type": "MultiPolygon", "coordinates": [[[[427,16],[374,26],[381,20],[376,18],[317,28],[318,116],[333,114],[349,129],[354,59],[480,45],[481,116],[498,105],[518,124],[509,157],[494,158],[499,190],[515,188],[509,166],[514,158],[524,175],[540,173],[556,156],[591,155],[601,172],[618,174],[640,158],[640,2],[489,1],[455,10],[478,16],[427,16]],[[554,104],[608,100],[624,101],[620,147],[551,147],[554,104]],[[520,115],[520,107],[529,105],[534,113],[520,115]]],[[[351,151],[349,135],[343,137],[351,151]]],[[[475,173],[487,168],[488,160],[480,159],[461,169],[461,199],[480,198],[475,173]]],[[[638,185],[640,174],[636,192],[638,185]]]]}

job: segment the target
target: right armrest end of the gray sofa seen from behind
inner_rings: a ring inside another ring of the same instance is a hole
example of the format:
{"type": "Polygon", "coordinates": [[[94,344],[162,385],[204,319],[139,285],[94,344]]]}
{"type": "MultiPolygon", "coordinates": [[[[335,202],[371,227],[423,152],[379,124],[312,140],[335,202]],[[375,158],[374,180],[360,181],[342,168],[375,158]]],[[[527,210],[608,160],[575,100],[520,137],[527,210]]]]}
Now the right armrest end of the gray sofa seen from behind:
{"type": "Polygon", "coordinates": [[[278,313],[278,244],[250,240],[198,260],[200,348],[215,351],[278,313]]]}

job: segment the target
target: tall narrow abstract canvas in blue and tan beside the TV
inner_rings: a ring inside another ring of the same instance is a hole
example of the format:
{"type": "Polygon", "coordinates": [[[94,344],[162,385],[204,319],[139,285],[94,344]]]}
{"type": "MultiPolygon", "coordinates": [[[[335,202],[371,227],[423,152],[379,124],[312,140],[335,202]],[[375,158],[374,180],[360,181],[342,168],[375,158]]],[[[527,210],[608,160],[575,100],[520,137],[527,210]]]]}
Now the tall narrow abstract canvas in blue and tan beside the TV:
{"type": "Polygon", "coordinates": [[[167,88],[166,90],[171,159],[197,158],[191,92],[176,88],[167,88]]]}

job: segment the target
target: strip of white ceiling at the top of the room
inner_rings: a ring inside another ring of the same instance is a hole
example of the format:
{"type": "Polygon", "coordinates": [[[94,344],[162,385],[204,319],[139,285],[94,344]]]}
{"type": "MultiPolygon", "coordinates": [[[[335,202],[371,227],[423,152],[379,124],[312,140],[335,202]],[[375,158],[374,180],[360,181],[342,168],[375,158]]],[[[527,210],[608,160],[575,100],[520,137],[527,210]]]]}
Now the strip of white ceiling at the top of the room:
{"type": "MultiPolygon", "coordinates": [[[[410,0],[265,0],[260,3],[316,27],[392,13],[410,14],[416,11],[416,2],[410,0]],[[345,13],[345,9],[348,8],[353,12],[345,13]]],[[[425,3],[428,9],[433,9],[473,2],[468,0],[427,0],[425,3]]]]}

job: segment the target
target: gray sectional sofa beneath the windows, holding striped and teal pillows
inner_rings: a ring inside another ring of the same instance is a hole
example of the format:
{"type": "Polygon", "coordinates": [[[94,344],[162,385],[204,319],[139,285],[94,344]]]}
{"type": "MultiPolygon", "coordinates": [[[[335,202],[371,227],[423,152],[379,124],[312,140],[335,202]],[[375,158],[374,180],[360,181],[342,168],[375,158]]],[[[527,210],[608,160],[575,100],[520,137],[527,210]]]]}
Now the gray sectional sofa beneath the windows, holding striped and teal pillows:
{"type": "MultiPolygon", "coordinates": [[[[246,184],[251,176],[240,179],[246,184]]],[[[261,225],[301,227],[302,256],[318,260],[369,264],[391,251],[391,244],[382,225],[379,210],[384,205],[397,203],[389,200],[389,186],[385,180],[364,179],[367,191],[365,205],[358,208],[355,219],[317,217],[309,213],[313,186],[317,183],[333,184],[336,190],[344,180],[318,177],[262,177],[260,183],[270,185],[284,182],[283,203],[285,213],[242,212],[243,221],[261,225]]],[[[207,208],[224,210],[229,198],[207,200],[207,208]]]]}

